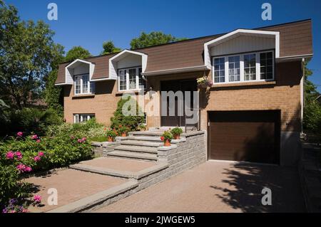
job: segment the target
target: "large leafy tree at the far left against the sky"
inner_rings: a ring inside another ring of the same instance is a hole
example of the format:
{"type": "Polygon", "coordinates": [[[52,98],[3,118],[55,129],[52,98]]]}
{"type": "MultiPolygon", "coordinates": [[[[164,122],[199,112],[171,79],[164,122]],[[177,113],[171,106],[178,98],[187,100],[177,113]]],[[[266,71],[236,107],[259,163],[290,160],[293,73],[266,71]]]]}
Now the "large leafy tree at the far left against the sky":
{"type": "Polygon", "coordinates": [[[60,48],[43,21],[20,21],[14,6],[0,2],[0,98],[22,109],[43,94],[60,48]]]}

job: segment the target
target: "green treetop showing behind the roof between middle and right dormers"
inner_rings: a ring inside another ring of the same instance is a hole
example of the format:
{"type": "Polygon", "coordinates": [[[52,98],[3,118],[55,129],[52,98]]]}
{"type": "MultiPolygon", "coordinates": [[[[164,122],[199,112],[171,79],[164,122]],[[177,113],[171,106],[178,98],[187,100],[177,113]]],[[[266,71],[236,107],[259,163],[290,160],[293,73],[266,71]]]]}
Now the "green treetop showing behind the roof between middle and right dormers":
{"type": "Polygon", "coordinates": [[[152,31],[151,33],[142,32],[141,36],[131,40],[131,49],[155,46],[163,43],[172,43],[185,39],[187,38],[175,38],[174,36],[170,34],[164,34],[161,31],[152,31]]]}

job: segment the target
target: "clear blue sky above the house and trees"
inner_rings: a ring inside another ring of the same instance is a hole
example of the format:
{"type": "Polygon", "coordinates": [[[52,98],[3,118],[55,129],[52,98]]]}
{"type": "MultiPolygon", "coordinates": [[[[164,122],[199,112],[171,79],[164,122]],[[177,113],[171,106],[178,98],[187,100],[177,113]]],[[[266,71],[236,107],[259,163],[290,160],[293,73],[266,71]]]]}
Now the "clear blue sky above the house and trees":
{"type": "Polygon", "coordinates": [[[43,20],[56,32],[54,39],[68,51],[83,46],[92,55],[112,40],[129,48],[142,31],[163,31],[175,37],[195,38],[225,33],[235,28],[257,28],[277,23],[312,19],[315,56],[310,78],[321,92],[321,1],[320,0],[6,0],[19,10],[21,19],[43,20]],[[58,5],[58,21],[47,19],[47,5],[58,5]],[[272,4],[272,21],[261,19],[261,5],[272,4]]]}

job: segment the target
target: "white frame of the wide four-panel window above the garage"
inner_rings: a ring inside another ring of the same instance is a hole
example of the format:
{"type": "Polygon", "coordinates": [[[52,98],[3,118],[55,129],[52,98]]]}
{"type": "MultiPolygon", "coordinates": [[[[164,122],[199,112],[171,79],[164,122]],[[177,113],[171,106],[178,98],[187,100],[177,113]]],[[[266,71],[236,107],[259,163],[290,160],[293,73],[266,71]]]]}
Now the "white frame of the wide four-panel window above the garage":
{"type": "Polygon", "coordinates": [[[240,54],[230,54],[227,56],[213,56],[212,57],[212,80],[213,84],[225,84],[225,83],[252,83],[258,81],[273,81],[275,80],[275,51],[256,51],[256,52],[248,52],[248,53],[240,53],[240,54]],[[261,72],[260,72],[260,53],[269,53],[272,52],[272,78],[271,79],[262,79],[261,80],[261,72]],[[244,80],[244,56],[248,54],[255,53],[256,56],[256,64],[255,64],[255,80],[244,80]],[[240,56],[240,81],[229,81],[228,80],[228,57],[240,56]],[[225,58],[225,82],[216,82],[214,80],[214,60],[216,58],[225,58]]]}

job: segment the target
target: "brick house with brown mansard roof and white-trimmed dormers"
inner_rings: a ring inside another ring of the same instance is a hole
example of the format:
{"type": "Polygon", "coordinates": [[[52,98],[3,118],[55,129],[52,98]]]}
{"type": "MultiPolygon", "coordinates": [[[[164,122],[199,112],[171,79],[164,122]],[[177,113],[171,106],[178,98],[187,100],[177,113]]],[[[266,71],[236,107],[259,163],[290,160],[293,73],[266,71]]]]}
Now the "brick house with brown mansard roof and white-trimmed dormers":
{"type": "MultiPolygon", "coordinates": [[[[106,125],[121,95],[145,85],[161,90],[200,90],[200,130],[208,159],[295,163],[300,151],[302,61],[311,58],[311,20],[193,38],[59,66],[67,122],[95,116],[106,125]],[[146,79],[146,80],[144,80],[146,79]]],[[[161,111],[161,108],[160,110],[161,111]]],[[[183,116],[147,117],[148,127],[185,126],[183,116]]]]}

